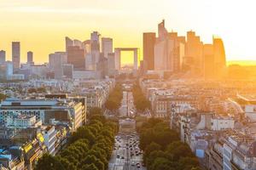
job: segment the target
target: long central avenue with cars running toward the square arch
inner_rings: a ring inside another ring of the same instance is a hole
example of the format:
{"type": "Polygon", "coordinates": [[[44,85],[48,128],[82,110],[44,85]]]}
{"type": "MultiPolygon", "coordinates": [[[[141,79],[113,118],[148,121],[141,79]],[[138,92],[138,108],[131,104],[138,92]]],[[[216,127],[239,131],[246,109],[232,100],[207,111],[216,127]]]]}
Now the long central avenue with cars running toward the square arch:
{"type": "MultiPolygon", "coordinates": [[[[127,85],[128,86],[128,85],[127,85]]],[[[135,107],[131,91],[123,91],[119,108],[119,118],[133,118],[135,107]]],[[[139,137],[136,132],[119,133],[115,137],[113,155],[108,163],[108,170],[146,170],[143,167],[143,152],[139,149],[139,137]]]]}

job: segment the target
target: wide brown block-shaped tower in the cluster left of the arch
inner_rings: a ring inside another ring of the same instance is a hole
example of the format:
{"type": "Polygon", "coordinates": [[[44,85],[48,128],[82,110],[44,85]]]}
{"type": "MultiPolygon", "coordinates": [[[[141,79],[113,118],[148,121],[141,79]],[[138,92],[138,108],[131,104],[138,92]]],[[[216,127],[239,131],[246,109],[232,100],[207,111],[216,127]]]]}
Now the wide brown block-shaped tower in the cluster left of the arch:
{"type": "Polygon", "coordinates": [[[74,71],[85,70],[85,54],[84,49],[78,46],[67,48],[67,63],[73,65],[74,71]]]}

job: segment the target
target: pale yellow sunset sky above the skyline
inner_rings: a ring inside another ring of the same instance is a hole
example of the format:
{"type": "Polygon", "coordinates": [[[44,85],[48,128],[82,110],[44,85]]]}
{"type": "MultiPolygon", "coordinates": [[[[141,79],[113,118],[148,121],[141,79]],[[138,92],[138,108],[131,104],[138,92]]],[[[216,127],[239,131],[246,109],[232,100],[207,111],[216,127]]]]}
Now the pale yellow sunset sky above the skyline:
{"type": "Polygon", "coordinates": [[[228,60],[256,60],[255,6],[253,0],[0,0],[0,49],[11,59],[11,42],[20,41],[21,61],[31,50],[42,63],[64,50],[66,36],[86,40],[99,31],[113,37],[114,47],[138,47],[142,55],[143,31],[157,31],[165,19],[179,35],[193,30],[206,43],[222,37],[228,60]]]}

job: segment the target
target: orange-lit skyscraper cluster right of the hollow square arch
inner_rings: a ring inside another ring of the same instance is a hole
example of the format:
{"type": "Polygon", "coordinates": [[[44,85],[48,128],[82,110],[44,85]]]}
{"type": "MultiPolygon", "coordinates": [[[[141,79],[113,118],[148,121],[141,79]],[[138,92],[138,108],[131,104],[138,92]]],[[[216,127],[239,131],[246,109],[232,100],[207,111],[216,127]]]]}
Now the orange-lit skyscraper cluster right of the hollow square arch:
{"type": "Polygon", "coordinates": [[[220,79],[226,68],[224,43],[219,37],[212,44],[204,44],[195,31],[187,37],[168,32],[165,20],[158,25],[158,37],[154,32],[143,33],[143,71],[189,72],[193,77],[220,79]]]}

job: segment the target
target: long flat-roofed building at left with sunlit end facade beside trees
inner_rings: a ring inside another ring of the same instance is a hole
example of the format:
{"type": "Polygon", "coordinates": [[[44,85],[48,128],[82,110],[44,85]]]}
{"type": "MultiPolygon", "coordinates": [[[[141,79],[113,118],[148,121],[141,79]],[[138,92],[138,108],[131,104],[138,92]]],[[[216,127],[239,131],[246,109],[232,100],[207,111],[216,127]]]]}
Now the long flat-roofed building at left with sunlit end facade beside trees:
{"type": "Polygon", "coordinates": [[[43,124],[65,124],[73,131],[86,121],[86,106],[73,99],[6,99],[0,105],[0,123],[7,123],[14,113],[36,116],[43,124]]]}

